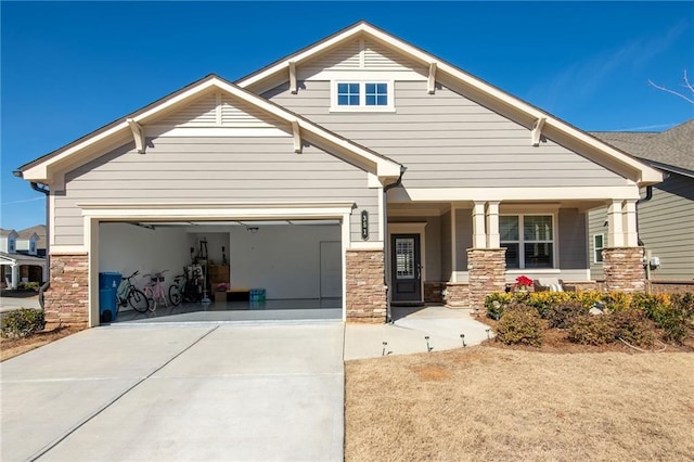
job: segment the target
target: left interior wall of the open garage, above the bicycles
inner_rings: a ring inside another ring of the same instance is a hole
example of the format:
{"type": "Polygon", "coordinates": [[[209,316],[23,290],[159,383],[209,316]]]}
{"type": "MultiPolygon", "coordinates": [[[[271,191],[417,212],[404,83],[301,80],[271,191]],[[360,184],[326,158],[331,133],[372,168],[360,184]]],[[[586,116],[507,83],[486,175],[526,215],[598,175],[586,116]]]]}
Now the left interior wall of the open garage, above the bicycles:
{"type": "MultiPolygon", "coordinates": [[[[149,230],[128,223],[101,223],[99,227],[99,272],[130,275],[168,269],[165,285],[183,271],[189,261],[188,233],[183,228],[149,230]]],[[[144,279],[136,278],[139,287],[144,279]]]]}

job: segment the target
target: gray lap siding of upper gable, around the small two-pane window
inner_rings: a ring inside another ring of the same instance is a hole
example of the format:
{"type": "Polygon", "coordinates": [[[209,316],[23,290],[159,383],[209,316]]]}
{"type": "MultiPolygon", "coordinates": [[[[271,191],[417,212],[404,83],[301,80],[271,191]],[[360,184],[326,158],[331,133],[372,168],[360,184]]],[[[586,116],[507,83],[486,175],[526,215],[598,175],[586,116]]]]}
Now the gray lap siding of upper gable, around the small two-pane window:
{"type": "Polygon", "coordinates": [[[530,131],[425,81],[396,81],[395,113],[330,112],[330,82],[283,85],[267,93],[311,120],[408,167],[406,188],[625,185],[627,180],[551,141],[530,145],[530,131]]]}

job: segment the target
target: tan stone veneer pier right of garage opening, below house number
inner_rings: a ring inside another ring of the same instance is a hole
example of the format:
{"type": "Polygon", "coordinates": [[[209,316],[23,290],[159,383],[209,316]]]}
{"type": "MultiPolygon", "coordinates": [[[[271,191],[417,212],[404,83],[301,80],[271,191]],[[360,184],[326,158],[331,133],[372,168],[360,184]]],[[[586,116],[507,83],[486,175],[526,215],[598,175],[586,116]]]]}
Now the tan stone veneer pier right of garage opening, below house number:
{"type": "Polygon", "coordinates": [[[383,251],[347,251],[347,321],[386,322],[383,251]]]}

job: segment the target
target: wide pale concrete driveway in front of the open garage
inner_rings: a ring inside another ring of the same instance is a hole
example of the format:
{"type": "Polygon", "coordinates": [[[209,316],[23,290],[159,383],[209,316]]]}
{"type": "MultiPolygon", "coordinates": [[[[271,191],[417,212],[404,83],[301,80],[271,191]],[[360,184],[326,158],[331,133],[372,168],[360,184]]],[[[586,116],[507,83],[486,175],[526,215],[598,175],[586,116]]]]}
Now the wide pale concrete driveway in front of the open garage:
{"type": "Polygon", "coordinates": [[[343,460],[344,325],[91,329],[0,364],[1,458],[343,460]]]}

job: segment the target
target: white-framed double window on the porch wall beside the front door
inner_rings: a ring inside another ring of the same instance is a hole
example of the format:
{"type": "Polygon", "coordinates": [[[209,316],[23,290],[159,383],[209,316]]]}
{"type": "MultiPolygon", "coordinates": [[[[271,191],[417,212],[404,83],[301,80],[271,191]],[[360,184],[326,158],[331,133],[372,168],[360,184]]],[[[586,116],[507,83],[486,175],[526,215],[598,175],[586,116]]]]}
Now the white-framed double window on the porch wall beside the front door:
{"type": "Polygon", "coordinates": [[[507,269],[554,268],[552,215],[502,215],[499,233],[507,269]]]}

